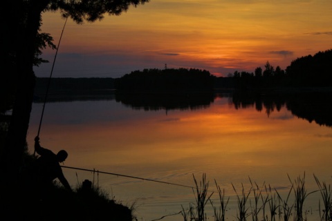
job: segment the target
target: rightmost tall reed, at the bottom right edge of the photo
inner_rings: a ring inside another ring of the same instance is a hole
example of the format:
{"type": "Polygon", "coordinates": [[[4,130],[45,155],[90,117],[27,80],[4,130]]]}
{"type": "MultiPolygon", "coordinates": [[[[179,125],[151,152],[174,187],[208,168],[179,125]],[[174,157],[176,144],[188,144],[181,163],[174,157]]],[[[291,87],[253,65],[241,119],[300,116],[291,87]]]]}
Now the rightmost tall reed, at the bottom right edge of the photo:
{"type": "Polygon", "coordinates": [[[322,184],[320,183],[320,180],[318,180],[318,178],[315,176],[315,174],[313,175],[313,177],[315,177],[315,181],[317,183],[317,186],[320,190],[320,194],[322,195],[322,200],[323,200],[323,206],[324,208],[322,209],[321,213],[321,209],[320,209],[320,218],[321,220],[332,220],[332,190],[331,190],[331,185],[329,184],[329,186],[326,184],[326,182],[322,182],[322,184]]]}

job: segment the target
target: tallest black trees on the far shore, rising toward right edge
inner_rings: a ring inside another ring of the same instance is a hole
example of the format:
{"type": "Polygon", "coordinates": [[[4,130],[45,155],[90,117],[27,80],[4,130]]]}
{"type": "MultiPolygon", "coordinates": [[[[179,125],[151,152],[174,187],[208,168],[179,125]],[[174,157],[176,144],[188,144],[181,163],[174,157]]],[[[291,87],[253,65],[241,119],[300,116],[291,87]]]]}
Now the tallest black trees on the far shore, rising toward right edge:
{"type": "Polygon", "coordinates": [[[236,89],[332,86],[332,50],[317,52],[314,56],[299,57],[282,70],[274,68],[268,61],[255,69],[255,73],[235,71],[230,85],[236,89]]]}

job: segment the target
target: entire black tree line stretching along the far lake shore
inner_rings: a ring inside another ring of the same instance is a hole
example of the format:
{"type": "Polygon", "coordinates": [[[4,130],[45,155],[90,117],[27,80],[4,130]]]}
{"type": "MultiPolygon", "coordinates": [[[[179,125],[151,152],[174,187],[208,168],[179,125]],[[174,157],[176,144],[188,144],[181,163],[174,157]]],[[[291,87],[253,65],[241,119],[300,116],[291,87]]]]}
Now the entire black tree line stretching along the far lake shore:
{"type": "MultiPolygon", "coordinates": [[[[235,71],[228,77],[215,77],[208,70],[194,68],[165,68],[135,70],[120,78],[52,78],[37,77],[35,97],[44,97],[48,81],[48,95],[93,95],[106,90],[131,92],[206,92],[214,88],[259,89],[271,87],[332,86],[332,50],[299,57],[282,70],[269,61],[255,72],[235,71]]],[[[8,90],[9,91],[9,90],[8,90]]],[[[12,96],[1,93],[0,113],[12,108],[12,96]]]]}

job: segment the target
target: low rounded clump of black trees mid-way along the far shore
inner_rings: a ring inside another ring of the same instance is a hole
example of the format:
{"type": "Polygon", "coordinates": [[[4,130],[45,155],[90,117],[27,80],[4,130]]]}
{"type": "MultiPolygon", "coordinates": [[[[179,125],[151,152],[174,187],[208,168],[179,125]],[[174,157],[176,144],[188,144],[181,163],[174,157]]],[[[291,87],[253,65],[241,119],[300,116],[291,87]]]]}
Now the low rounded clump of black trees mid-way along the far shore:
{"type": "Polygon", "coordinates": [[[194,68],[135,70],[115,79],[118,91],[203,92],[214,88],[214,75],[194,68]]]}

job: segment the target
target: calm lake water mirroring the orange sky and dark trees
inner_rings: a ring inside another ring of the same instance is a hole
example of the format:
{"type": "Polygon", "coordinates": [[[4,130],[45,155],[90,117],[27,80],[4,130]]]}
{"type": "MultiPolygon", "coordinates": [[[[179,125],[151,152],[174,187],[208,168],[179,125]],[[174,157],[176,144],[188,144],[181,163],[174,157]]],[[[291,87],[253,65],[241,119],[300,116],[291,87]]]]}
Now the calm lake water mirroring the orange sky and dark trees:
{"type": "MultiPolygon", "coordinates": [[[[134,204],[137,220],[183,220],[176,213],[182,211],[181,206],[189,209],[195,203],[193,190],[186,186],[195,186],[194,177],[200,182],[204,174],[209,193],[214,192],[214,205],[219,204],[216,181],[225,189],[225,198],[230,197],[226,218],[236,220],[237,194],[232,185],[241,193],[241,185],[249,191],[252,180],[286,195],[291,181],[304,174],[308,193],[317,190],[313,174],[321,182],[331,183],[331,118],[322,119],[326,113],[322,109],[331,104],[311,102],[297,95],[288,101],[227,94],[110,95],[48,102],[39,137],[41,145],[55,153],[62,148],[68,151],[65,166],[95,170],[64,168],[72,186],[85,179],[93,181],[116,201],[134,204]]],[[[33,104],[28,131],[31,153],[42,107],[33,104]]],[[[331,115],[329,110],[327,113],[326,117],[331,115]]],[[[306,198],[308,220],[320,220],[320,197],[320,193],[312,193],[306,198]]],[[[249,200],[246,206],[249,214],[249,200]]],[[[214,220],[210,202],[206,212],[214,220]]]]}

